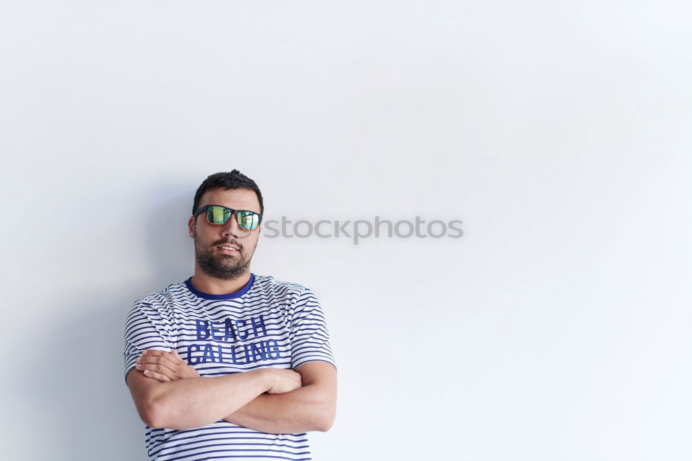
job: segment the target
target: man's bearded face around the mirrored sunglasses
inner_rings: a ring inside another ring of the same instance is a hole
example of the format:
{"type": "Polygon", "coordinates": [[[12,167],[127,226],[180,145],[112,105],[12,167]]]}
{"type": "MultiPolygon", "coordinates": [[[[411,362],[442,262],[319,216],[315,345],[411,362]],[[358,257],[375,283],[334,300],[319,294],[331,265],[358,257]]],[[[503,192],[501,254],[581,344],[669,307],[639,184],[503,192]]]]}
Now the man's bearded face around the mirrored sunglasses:
{"type": "MultiPolygon", "coordinates": [[[[260,213],[260,200],[254,190],[221,188],[208,190],[199,200],[198,208],[205,205],[221,205],[233,210],[250,210],[260,213]]],[[[194,257],[199,269],[210,277],[221,280],[233,280],[250,267],[250,260],[255,253],[260,228],[242,230],[235,216],[226,224],[215,226],[209,224],[206,212],[188,222],[190,237],[194,238],[194,257]],[[221,246],[236,246],[237,251],[226,250],[221,246]]]]}

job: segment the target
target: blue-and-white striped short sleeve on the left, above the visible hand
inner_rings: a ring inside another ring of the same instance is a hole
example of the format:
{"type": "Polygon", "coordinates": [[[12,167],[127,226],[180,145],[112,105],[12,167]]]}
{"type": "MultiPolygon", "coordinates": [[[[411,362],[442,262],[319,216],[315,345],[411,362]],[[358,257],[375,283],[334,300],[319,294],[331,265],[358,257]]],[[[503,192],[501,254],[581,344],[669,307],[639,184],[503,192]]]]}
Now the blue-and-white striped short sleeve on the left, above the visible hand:
{"type": "Polygon", "coordinates": [[[159,314],[158,309],[138,302],[127,314],[124,338],[122,359],[125,365],[125,383],[127,383],[127,372],[134,368],[135,359],[142,354],[143,350],[170,352],[174,348],[165,319],[159,314]]]}

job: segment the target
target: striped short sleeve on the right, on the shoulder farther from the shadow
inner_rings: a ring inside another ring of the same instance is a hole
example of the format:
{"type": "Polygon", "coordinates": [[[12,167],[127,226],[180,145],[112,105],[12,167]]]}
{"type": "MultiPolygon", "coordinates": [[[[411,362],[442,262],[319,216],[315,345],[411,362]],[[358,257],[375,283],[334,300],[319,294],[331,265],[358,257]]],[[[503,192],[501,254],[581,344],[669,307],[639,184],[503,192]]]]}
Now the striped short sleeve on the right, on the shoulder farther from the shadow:
{"type": "Polygon", "coordinates": [[[291,368],[310,361],[325,361],[334,365],[329,330],[320,301],[308,288],[298,296],[291,315],[291,368]]]}

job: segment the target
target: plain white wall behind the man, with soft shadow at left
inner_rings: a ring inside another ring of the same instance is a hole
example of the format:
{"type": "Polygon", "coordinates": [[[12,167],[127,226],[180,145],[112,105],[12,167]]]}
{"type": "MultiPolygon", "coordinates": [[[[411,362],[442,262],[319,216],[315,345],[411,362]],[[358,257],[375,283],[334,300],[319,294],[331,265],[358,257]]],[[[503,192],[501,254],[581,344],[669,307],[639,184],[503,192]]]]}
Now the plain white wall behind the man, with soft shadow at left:
{"type": "Polygon", "coordinates": [[[194,191],[238,168],[268,219],[464,222],[260,240],[339,364],[313,459],[689,460],[690,10],[1,7],[2,457],[145,459],[125,313],[192,274],[194,191]]]}

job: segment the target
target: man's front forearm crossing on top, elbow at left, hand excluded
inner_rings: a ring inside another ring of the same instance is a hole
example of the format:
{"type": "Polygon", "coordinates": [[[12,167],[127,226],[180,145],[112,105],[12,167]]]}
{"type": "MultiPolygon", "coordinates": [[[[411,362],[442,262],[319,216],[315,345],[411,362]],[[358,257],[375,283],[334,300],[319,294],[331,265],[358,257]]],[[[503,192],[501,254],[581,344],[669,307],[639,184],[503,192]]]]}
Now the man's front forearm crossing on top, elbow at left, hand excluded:
{"type": "Polygon", "coordinates": [[[261,368],[165,383],[133,369],[126,380],[137,411],[147,426],[179,430],[217,422],[271,389],[271,379],[261,368]]]}

